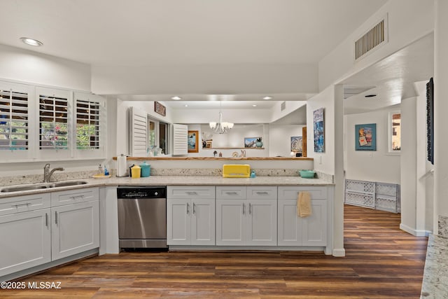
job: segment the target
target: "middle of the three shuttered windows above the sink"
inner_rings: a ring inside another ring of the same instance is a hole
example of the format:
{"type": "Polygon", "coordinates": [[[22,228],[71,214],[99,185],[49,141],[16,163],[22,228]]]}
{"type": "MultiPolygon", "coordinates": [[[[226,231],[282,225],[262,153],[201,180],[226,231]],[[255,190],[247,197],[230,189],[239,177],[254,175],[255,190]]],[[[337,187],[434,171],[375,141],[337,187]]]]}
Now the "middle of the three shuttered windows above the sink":
{"type": "Polygon", "coordinates": [[[39,92],[39,149],[69,149],[69,99],[39,92]]]}

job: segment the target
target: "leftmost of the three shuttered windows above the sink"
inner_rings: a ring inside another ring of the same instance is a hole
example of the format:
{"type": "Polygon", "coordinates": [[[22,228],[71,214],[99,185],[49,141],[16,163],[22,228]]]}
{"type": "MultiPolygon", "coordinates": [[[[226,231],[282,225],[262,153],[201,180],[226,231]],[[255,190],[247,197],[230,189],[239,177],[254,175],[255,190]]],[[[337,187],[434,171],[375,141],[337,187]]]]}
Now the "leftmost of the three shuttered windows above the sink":
{"type": "Polygon", "coordinates": [[[0,90],[0,150],[29,149],[28,94],[0,90]]]}

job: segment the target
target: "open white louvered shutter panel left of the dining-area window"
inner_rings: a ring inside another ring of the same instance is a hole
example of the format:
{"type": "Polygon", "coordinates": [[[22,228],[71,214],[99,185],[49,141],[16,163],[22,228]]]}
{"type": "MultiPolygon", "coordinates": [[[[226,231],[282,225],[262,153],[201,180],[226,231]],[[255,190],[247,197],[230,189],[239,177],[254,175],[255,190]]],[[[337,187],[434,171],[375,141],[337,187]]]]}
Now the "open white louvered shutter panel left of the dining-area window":
{"type": "Polygon", "coordinates": [[[148,116],[146,111],[130,107],[130,148],[131,157],[146,157],[148,147],[148,116]]]}

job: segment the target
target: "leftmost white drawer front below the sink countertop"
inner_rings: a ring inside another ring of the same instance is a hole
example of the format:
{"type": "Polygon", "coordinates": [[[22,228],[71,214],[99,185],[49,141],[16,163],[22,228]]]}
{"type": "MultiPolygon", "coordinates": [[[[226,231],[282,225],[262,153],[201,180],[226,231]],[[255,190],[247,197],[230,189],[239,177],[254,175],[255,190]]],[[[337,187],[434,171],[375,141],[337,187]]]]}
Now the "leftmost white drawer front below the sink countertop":
{"type": "Polygon", "coordinates": [[[0,215],[34,211],[50,207],[50,193],[24,195],[0,200],[0,215]]]}

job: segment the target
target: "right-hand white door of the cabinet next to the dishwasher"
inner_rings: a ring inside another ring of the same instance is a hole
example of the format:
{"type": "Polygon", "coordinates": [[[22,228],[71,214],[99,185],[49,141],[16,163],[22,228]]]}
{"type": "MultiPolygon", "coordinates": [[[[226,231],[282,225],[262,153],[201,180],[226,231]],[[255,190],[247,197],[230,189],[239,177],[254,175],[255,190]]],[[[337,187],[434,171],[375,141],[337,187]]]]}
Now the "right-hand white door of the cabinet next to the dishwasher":
{"type": "Polygon", "coordinates": [[[215,242],[215,200],[192,200],[191,244],[214,245],[215,242]]]}

